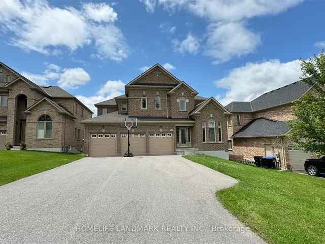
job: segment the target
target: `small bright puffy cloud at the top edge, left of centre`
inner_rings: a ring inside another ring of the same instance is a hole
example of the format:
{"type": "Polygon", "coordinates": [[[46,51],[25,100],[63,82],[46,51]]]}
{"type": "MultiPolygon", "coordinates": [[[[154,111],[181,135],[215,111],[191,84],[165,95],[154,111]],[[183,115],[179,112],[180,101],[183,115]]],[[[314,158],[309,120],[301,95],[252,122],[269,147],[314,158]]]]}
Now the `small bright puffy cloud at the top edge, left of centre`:
{"type": "Polygon", "coordinates": [[[117,20],[117,13],[107,4],[84,4],[86,16],[96,22],[114,22],[117,20]]]}

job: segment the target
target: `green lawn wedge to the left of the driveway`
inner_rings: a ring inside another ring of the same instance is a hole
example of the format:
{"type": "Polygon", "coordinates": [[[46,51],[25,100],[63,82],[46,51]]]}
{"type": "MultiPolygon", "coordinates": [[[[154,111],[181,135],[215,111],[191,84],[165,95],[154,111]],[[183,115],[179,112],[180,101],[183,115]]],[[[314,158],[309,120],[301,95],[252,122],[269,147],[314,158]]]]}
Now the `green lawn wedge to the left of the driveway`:
{"type": "Polygon", "coordinates": [[[0,150],[0,186],[81,158],[82,154],[0,150]]]}

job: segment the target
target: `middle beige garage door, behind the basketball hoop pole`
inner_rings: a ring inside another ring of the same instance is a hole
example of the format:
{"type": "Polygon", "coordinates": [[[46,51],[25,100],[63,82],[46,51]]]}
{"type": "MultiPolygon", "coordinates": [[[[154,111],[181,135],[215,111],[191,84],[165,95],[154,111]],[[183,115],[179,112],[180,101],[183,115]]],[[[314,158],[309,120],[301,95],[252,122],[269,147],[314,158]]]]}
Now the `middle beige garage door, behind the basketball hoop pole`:
{"type": "MultiPolygon", "coordinates": [[[[146,155],[146,137],[145,134],[130,134],[130,151],[133,155],[146,155]]],[[[121,155],[127,151],[127,134],[121,134],[121,155]]]]}

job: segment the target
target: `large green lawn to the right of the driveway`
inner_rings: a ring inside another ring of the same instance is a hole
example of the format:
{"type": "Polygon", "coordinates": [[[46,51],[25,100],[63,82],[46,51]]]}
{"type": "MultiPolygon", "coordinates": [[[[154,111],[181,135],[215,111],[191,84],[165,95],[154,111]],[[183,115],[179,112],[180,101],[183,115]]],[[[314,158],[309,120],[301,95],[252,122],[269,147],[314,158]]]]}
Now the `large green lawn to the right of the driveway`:
{"type": "Polygon", "coordinates": [[[325,243],[325,179],[209,156],[184,156],[239,180],[219,201],[269,243],[325,243]]]}

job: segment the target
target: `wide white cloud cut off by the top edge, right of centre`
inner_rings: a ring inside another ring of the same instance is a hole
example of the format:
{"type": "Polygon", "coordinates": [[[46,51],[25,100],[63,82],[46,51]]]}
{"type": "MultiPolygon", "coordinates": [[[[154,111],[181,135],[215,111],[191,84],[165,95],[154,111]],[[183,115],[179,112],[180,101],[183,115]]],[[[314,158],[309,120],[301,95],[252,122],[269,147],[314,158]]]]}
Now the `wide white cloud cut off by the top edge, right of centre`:
{"type": "Polygon", "coordinates": [[[242,0],[242,1],[186,1],[186,0],[159,0],[165,10],[185,9],[199,17],[208,18],[210,21],[239,21],[242,19],[278,14],[289,8],[302,3],[302,0],[264,1],[264,0],[242,0]]]}

